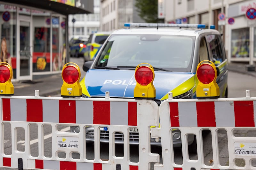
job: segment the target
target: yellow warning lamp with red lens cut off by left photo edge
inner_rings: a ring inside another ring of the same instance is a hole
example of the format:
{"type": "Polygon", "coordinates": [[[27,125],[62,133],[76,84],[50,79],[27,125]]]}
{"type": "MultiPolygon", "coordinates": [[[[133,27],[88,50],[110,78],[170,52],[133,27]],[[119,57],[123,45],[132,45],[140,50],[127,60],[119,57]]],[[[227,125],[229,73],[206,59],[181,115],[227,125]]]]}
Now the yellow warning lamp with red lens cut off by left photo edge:
{"type": "Polygon", "coordinates": [[[6,62],[0,63],[0,96],[11,96],[14,94],[12,84],[12,67],[6,62]]]}

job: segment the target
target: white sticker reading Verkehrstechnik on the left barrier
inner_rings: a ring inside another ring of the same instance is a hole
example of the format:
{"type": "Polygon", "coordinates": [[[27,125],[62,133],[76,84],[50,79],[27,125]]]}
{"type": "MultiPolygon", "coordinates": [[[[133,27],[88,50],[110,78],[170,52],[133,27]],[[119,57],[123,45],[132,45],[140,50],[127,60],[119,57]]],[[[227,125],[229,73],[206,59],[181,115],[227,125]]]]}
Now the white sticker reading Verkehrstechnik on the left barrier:
{"type": "Polygon", "coordinates": [[[78,137],[57,137],[57,147],[59,148],[79,148],[78,137]]]}

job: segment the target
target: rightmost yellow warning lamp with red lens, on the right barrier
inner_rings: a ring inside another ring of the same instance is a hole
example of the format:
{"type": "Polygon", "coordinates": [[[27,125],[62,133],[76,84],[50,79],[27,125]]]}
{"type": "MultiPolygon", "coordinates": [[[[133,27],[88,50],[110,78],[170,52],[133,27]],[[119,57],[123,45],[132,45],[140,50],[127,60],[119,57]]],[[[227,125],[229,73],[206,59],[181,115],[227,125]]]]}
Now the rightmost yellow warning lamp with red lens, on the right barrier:
{"type": "Polygon", "coordinates": [[[216,83],[217,69],[214,63],[209,60],[200,62],[196,68],[196,77],[198,79],[196,87],[198,99],[220,97],[220,88],[216,83]]]}

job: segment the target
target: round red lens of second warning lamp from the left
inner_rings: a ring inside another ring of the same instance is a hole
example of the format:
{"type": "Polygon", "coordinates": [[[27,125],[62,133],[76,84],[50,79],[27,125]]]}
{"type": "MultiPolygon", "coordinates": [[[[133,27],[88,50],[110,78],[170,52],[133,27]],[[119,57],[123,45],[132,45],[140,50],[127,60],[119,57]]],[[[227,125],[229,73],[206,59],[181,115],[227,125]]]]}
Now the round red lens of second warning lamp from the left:
{"type": "Polygon", "coordinates": [[[78,70],[74,66],[69,65],[62,71],[62,78],[66,83],[74,84],[79,78],[78,70]]]}

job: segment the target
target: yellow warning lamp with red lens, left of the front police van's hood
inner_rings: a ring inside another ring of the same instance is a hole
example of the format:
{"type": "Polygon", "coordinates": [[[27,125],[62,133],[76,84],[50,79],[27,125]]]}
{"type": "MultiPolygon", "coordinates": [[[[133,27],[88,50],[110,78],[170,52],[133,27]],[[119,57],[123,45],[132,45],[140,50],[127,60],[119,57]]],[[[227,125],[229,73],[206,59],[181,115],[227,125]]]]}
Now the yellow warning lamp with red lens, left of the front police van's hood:
{"type": "Polygon", "coordinates": [[[66,63],[63,66],[61,97],[82,97],[82,87],[79,83],[80,77],[81,72],[76,63],[66,63]]]}

